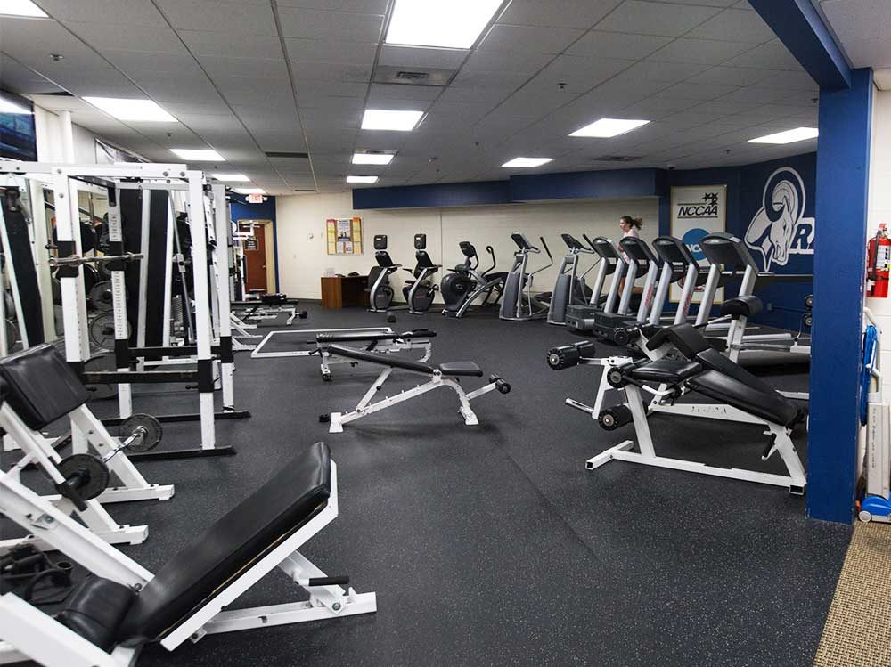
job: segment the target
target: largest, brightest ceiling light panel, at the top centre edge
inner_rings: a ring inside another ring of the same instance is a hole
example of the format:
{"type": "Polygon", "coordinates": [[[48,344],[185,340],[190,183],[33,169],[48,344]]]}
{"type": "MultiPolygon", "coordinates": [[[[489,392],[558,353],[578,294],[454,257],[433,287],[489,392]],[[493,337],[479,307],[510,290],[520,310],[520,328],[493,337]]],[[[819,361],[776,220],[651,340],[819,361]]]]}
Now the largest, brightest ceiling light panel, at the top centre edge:
{"type": "Polygon", "coordinates": [[[396,0],[388,44],[469,49],[503,0],[396,0]]]}

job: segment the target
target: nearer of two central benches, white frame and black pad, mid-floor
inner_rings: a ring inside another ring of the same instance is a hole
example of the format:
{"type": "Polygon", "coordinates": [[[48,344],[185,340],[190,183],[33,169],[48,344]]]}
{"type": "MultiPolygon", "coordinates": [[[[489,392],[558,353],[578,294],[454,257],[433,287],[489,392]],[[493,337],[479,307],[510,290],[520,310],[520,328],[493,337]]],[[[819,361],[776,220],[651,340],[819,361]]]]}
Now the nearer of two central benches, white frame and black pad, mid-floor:
{"type": "MultiPolygon", "coordinates": [[[[321,344],[320,344],[321,345],[321,344]]],[[[426,394],[433,389],[445,386],[451,388],[458,395],[458,401],[461,403],[458,411],[461,413],[464,423],[468,426],[476,426],[479,421],[476,413],[470,408],[470,401],[478,396],[488,394],[493,389],[497,389],[502,394],[508,394],[511,386],[497,375],[489,376],[488,384],[481,386],[470,393],[465,393],[459,384],[459,379],[466,378],[482,378],[483,371],[474,362],[450,362],[440,363],[438,366],[431,366],[425,362],[412,362],[389,354],[380,354],[376,352],[365,352],[356,350],[352,347],[344,347],[337,345],[325,345],[328,354],[344,357],[346,359],[356,360],[357,362],[373,363],[382,366],[383,370],[375,378],[372,386],[365,392],[365,395],[356,404],[356,408],[350,412],[331,412],[330,415],[322,415],[321,421],[331,420],[330,433],[343,432],[343,425],[356,419],[362,419],[374,412],[386,410],[397,403],[403,403],[415,396],[426,394]],[[394,369],[408,370],[418,373],[429,378],[422,385],[414,386],[412,389],[406,389],[394,396],[388,396],[377,403],[372,403],[372,398],[383,387],[384,382],[390,376],[394,369]]]]}

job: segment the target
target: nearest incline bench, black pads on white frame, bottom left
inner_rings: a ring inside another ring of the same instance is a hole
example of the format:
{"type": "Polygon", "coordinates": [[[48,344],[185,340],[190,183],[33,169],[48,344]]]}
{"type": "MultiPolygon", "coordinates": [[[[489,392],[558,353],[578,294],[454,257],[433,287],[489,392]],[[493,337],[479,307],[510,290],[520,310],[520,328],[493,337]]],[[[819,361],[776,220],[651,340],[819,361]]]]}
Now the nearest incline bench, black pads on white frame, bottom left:
{"type": "Polygon", "coordinates": [[[377,610],[374,593],[344,590],[347,577],[326,576],[298,552],[338,514],[337,467],[324,443],[308,447],[155,574],[6,474],[0,512],[41,526],[55,549],[94,574],[54,618],[12,593],[0,596],[0,663],[124,667],[150,641],[173,650],[206,634],[377,610]],[[307,601],[227,609],[275,567],[307,591],[307,601]]]}

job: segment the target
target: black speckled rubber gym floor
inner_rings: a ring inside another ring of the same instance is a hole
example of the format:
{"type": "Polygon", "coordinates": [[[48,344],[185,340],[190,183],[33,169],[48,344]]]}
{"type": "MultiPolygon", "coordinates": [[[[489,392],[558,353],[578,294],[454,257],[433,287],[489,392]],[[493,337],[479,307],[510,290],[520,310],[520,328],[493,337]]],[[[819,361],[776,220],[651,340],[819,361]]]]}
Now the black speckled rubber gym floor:
{"type": "MultiPolygon", "coordinates": [[[[381,314],[305,307],[310,318],[294,329],[386,324],[381,314]]],[[[373,371],[339,365],[325,384],[315,359],[240,354],[238,407],[254,416],[218,422],[238,455],[140,464],[150,481],[176,484],[176,497],[110,508],[151,526],[148,541],[125,550],[157,568],[294,452],[324,440],[339,464],[340,515],[305,553],[376,591],[378,613],[210,636],[174,654],[148,647],[140,665],[813,663],[850,527],[805,519],[804,500],[775,487],[620,462],[587,471],[585,460],[633,429],[607,433],[563,405],[567,395],[593,401],[598,379],[598,369],[547,367],[545,351],[575,337],[486,314],[397,316],[396,330],[437,330],[435,361],[476,361],[513,391],[474,402],[479,427],[465,427],[442,391],[329,435],[318,415],[354,405],[373,371]]],[[[388,386],[416,378],[395,373],[388,386]]],[[[776,382],[798,388],[805,378],[776,382]]],[[[155,397],[137,409],[190,401],[155,397]]],[[[654,417],[652,428],[661,453],[761,465],[757,427],[654,417]]],[[[197,425],[170,425],[165,440],[183,446],[196,434],[197,425]]],[[[803,433],[796,441],[806,460],[803,433]]],[[[274,573],[245,601],[292,592],[274,573]]]]}

